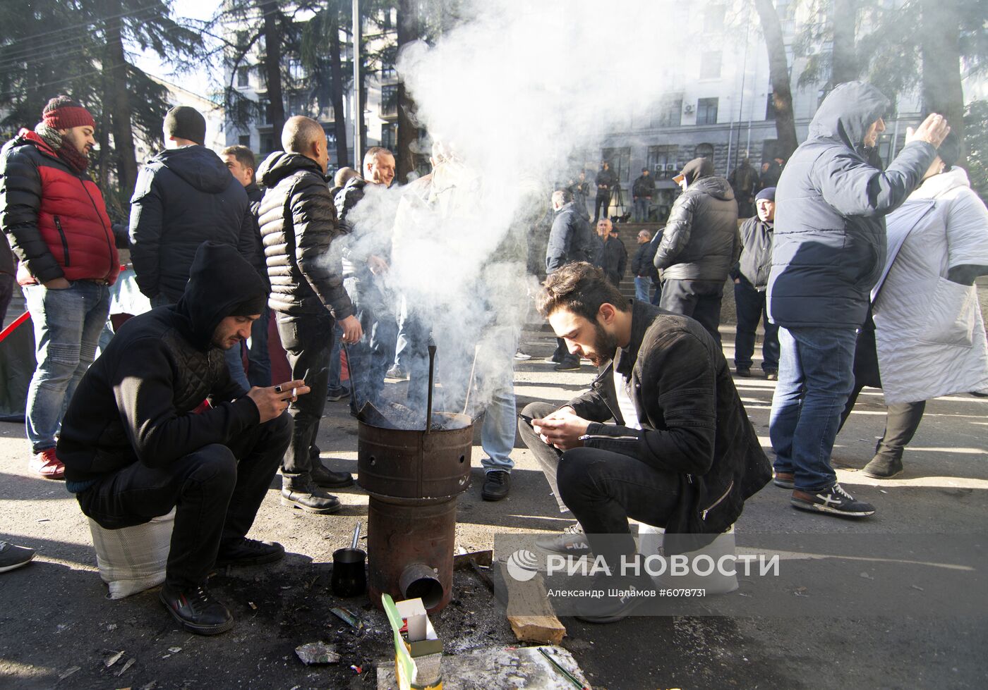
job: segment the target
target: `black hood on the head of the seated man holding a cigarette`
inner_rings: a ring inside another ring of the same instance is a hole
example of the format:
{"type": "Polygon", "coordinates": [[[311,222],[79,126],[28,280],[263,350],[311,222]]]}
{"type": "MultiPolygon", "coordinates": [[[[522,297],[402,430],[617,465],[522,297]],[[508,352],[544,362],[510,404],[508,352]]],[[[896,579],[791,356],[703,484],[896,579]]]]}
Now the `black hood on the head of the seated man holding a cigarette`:
{"type": "Polygon", "coordinates": [[[260,314],[267,297],[261,276],[235,248],[204,242],[196,250],[185,294],[174,309],[185,317],[190,342],[206,349],[220,321],[260,314]]]}

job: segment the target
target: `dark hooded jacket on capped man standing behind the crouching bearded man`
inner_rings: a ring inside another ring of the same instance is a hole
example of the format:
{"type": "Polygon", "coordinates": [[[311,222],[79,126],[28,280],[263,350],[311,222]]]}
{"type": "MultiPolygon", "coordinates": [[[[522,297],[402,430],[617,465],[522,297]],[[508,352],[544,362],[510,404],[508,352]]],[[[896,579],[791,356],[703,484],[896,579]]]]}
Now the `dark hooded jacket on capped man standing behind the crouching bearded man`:
{"type": "Polygon", "coordinates": [[[663,280],[714,280],[723,282],[741,253],[738,238],[738,204],[731,186],[711,174],[690,180],[680,194],[655,253],[655,268],[663,280]]]}

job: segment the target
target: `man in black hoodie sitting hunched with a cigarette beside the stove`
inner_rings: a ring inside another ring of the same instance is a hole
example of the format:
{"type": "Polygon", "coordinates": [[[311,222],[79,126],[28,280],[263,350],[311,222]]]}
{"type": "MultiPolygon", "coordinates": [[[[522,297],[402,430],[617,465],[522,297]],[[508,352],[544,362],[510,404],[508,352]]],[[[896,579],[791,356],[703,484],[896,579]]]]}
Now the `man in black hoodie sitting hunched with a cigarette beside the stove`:
{"type": "Polygon", "coordinates": [[[202,635],[233,626],[206,587],[213,565],[285,555],[280,544],[244,535],[288,447],[288,401],[308,388],[289,381],[244,390],[223,357],[250,335],[266,297],[236,250],[204,243],[178,304],[127,321],[82,377],[58,439],[66,488],[104,528],[176,508],[159,598],[202,635]]]}

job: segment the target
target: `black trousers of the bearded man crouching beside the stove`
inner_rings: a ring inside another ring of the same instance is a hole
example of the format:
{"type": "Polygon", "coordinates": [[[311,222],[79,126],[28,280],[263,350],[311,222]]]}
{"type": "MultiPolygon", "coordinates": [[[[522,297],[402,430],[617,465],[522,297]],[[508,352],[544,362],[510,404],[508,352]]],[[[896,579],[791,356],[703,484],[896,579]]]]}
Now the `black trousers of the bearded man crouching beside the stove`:
{"type": "MultiPolygon", "coordinates": [[[[557,406],[532,403],[523,415],[539,419],[557,406]]],[[[546,445],[527,422],[519,422],[529,446],[552,489],[560,510],[567,508],[580,521],[595,555],[609,564],[635,552],[627,518],[665,527],[679,502],[679,476],[656,470],[628,455],[596,448],[566,452],[546,445]]]]}

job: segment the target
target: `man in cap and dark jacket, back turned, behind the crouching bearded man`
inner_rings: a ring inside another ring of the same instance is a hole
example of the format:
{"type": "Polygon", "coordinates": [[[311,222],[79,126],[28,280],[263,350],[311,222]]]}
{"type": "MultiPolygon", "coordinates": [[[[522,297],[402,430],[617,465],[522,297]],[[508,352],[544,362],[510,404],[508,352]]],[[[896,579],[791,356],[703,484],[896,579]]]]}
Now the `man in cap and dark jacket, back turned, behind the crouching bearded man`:
{"type": "Polygon", "coordinates": [[[659,305],[692,316],[720,343],[720,298],[727,272],[741,253],[738,204],[706,158],[687,163],[673,181],[683,193],[669,212],[655,253],[655,268],[663,271],[659,305]]]}

